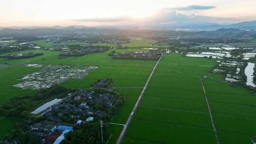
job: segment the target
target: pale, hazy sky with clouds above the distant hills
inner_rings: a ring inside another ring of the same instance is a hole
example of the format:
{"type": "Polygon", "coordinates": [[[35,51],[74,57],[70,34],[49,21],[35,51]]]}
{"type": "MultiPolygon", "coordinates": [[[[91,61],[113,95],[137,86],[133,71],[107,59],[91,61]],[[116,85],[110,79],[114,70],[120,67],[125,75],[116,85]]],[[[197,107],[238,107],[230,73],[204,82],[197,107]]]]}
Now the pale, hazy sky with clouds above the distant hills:
{"type": "Polygon", "coordinates": [[[256,0],[1,0],[0,27],[237,23],[256,20],[256,0]]]}

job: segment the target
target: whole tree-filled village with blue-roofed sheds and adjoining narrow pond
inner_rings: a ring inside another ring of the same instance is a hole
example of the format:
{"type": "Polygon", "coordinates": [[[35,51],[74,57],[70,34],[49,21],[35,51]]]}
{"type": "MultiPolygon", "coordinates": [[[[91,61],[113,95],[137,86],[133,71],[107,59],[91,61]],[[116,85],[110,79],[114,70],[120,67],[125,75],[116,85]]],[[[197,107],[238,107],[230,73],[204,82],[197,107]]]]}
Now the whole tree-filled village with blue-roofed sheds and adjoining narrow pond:
{"type": "Polygon", "coordinates": [[[60,144],[65,139],[64,135],[77,126],[110,121],[125,100],[109,87],[112,81],[98,80],[90,89],[72,90],[60,101],[43,105],[45,108],[40,111],[37,108],[37,112],[31,114],[42,117],[42,120],[29,126],[31,135],[37,136],[41,144],[60,144]]]}

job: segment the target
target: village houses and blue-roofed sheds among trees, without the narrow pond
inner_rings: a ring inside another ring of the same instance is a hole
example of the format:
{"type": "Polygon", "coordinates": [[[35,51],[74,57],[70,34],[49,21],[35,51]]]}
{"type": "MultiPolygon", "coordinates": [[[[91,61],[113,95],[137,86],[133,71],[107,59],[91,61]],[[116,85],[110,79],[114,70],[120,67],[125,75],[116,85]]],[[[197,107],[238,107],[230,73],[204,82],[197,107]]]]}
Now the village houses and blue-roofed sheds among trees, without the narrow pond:
{"type": "MultiPolygon", "coordinates": [[[[100,83],[99,85],[102,85],[102,81],[100,83]]],[[[99,85],[97,85],[98,88],[100,88],[99,85]]],[[[101,119],[106,113],[105,110],[110,108],[116,100],[113,94],[107,91],[97,92],[85,89],[74,91],[61,102],[47,108],[43,113],[46,120],[30,126],[30,132],[37,135],[42,144],[59,144],[64,139],[64,134],[73,131],[74,126],[101,119]],[[106,108],[102,109],[98,106],[106,108]]]]}

